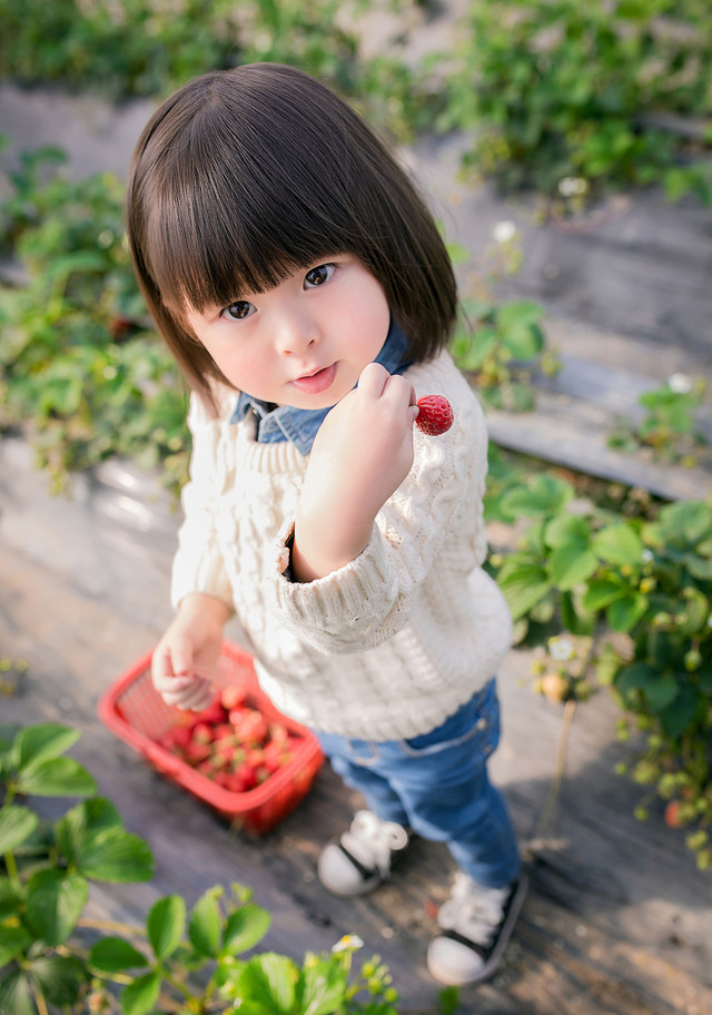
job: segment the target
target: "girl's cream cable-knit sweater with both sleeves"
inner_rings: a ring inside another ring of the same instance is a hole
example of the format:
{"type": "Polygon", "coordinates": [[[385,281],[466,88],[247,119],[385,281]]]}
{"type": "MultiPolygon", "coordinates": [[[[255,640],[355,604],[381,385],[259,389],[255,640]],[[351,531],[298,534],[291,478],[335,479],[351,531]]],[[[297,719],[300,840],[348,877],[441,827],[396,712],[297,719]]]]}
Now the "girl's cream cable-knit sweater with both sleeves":
{"type": "Polygon", "coordinates": [[[174,604],[190,592],[227,602],[230,634],[254,653],[277,708],[313,729],[367,740],[439,726],[494,676],[512,633],[502,593],[481,569],[482,410],[447,353],[405,376],[418,397],[444,394],[455,422],[439,437],[415,428],[413,469],[366,549],[309,583],[284,574],[308,459],[291,443],[257,443],[251,415],[230,423],[234,392],[220,393],[217,421],[194,397],[174,564],[174,604]]]}

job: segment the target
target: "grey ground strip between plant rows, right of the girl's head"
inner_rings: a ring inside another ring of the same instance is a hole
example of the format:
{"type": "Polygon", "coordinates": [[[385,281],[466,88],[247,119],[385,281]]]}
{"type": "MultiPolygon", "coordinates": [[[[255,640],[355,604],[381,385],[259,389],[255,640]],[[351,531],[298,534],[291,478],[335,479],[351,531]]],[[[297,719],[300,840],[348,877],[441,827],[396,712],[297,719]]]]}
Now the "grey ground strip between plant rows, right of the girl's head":
{"type": "Polygon", "coordinates": [[[469,253],[464,295],[492,270],[493,229],[517,229],[522,267],[485,292],[526,299],[544,311],[547,346],[560,373],[531,378],[531,413],[487,412],[502,446],[668,500],[712,494],[712,209],[673,206],[659,191],[619,195],[578,226],[543,217],[541,198],[497,196],[458,176],[462,137],[426,139],[407,154],[435,195],[446,235],[469,253]],[[698,428],[708,444],[694,467],[607,446],[616,417],[640,422],[639,398],[673,374],[706,383],[698,428]]]}

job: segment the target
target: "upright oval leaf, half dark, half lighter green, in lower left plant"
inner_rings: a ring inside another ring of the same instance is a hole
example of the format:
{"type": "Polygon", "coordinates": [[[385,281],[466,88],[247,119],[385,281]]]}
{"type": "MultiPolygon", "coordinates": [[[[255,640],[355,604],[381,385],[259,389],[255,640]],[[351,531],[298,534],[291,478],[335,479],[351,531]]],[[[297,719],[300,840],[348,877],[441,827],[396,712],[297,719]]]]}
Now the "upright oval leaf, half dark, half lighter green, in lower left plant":
{"type": "Polygon", "coordinates": [[[44,869],[28,883],[27,915],[37,936],[48,945],[63,944],[87,904],[85,878],[66,870],[44,869]]]}

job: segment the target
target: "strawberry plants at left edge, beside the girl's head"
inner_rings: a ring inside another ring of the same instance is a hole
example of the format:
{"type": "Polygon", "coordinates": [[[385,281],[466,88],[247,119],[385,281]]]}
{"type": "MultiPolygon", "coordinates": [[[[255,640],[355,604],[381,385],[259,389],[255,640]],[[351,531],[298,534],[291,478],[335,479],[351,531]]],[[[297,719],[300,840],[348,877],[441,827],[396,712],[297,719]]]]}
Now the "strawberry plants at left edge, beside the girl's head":
{"type": "Polygon", "coordinates": [[[110,455],[166,485],[187,475],[186,393],[147,319],[123,243],[123,187],[29,158],[12,177],[4,236],[26,273],[0,285],[0,427],[22,426],[55,490],[110,455]]]}

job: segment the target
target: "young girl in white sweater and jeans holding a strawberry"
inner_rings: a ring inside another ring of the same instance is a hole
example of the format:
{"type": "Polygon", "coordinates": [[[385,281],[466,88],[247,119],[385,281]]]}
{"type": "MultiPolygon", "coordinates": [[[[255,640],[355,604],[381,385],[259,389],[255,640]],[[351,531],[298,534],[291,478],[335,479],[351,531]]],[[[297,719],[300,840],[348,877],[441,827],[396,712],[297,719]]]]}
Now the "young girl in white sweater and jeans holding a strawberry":
{"type": "Polygon", "coordinates": [[[155,686],[207,704],[231,619],[266,693],[365,798],[322,853],[323,885],[369,891],[413,835],[446,842],[461,873],[428,967],[483,979],[524,895],[486,768],[511,620],[482,570],[487,438],[446,352],[457,297],[433,218],[342,99],[268,63],[161,106],[127,213],[194,390],[155,686]],[[438,437],[414,430],[426,394],[454,410],[438,437]]]}

